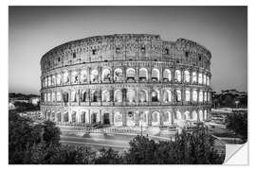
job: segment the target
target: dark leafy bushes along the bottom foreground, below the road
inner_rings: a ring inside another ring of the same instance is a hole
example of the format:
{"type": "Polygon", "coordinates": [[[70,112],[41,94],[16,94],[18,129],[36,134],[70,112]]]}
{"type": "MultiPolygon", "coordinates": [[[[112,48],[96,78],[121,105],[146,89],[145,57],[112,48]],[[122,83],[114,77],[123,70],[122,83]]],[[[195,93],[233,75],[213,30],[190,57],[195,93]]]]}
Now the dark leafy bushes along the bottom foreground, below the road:
{"type": "Polygon", "coordinates": [[[29,119],[9,114],[10,164],[219,164],[213,139],[205,127],[183,131],[174,141],[155,142],[137,136],[127,152],[112,148],[99,152],[86,146],[60,144],[60,129],[52,122],[33,125],[29,119]]]}

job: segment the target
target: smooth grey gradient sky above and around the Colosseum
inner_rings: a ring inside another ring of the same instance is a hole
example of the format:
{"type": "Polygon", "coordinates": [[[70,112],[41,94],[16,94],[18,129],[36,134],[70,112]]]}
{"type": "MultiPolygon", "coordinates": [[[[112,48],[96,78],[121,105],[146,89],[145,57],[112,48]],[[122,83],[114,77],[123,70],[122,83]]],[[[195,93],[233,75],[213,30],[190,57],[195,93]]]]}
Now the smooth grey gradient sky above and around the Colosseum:
{"type": "Polygon", "coordinates": [[[9,92],[39,93],[40,59],[51,48],[117,33],[203,44],[212,55],[213,91],[247,92],[246,7],[10,7],[9,92]]]}

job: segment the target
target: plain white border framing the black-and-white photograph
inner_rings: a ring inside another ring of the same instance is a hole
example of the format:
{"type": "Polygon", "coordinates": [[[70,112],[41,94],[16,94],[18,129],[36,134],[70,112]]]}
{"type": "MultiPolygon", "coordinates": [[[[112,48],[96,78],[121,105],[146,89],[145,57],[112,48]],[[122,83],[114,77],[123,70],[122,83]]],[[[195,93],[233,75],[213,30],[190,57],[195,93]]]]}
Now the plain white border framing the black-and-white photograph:
{"type": "MultiPolygon", "coordinates": [[[[255,119],[255,114],[256,110],[255,107],[253,106],[253,102],[256,101],[256,98],[254,96],[255,94],[255,76],[252,75],[252,73],[255,73],[255,31],[256,31],[256,26],[255,26],[255,16],[256,16],[256,8],[255,8],[255,1],[250,0],[249,2],[246,0],[179,0],[179,1],[172,1],[170,2],[169,0],[159,0],[159,1],[152,1],[152,0],[129,0],[129,1],[119,1],[119,0],[91,0],[91,1],[85,1],[84,0],[37,0],[36,2],[33,0],[11,0],[11,1],[5,1],[4,3],[1,2],[0,6],[0,12],[1,12],[1,57],[0,57],[0,74],[1,74],[1,97],[0,97],[0,105],[1,105],[1,168],[39,168],[39,169],[45,169],[48,168],[45,166],[20,166],[20,165],[8,165],[8,86],[9,86],[9,78],[8,78],[8,6],[94,6],[94,5],[100,5],[100,6],[247,6],[248,5],[248,107],[249,107],[249,116],[248,116],[248,131],[254,131],[256,124],[253,121],[256,121],[255,119]],[[249,48],[250,47],[250,48],[249,48]],[[254,53],[253,53],[254,52],[254,53]],[[250,121],[252,120],[252,121],[250,121]]],[[[250,152],[250,158],[255,158],[251,154],[253,154],[253,150],[255,152],[255,146],[253,145],[253,141],[255,141],[255,135],[252,133],[249,134],[249,141],[251,145],[249,145],[249,150],[250,152]]],[[[254,161],[255,162],[255,161],[254,161]]],[[[253,161],[250,161],[250,166],[218,166],[218,168],[252,168],[253,161]]],[[[50,166],[52,167],[52,166],[50,166]]],[[[111,165],[106,165],[104,167],[102,166],[93,166],[93,165],[86,165],[86,166],[76,166],[74,168],[111,168],[111,169],[131,169],[131,168],[142,168],[142,166],[134,165],[134,166],[111,166],[111,165]]],[[[143,166],[145,168],[158,168],[156,166],[143,166]]],[[[54,167],[58,168],[58,167],[54,167]]],[[[63,165],[61,167],[62,169],[70,169],[72,168],[71,166],[66,166],[63,165]]],[[[196,168],[196,169],[201,169],[201,168],[216,168],[215,166],[178,166],[178,167],[170,167],[170,166],[165,166],[161,165],[159,167],[161,169],[170,169],[170,168],[196,168]]],[[[255,169],[255,167],[254,167],[255,169]]]]}

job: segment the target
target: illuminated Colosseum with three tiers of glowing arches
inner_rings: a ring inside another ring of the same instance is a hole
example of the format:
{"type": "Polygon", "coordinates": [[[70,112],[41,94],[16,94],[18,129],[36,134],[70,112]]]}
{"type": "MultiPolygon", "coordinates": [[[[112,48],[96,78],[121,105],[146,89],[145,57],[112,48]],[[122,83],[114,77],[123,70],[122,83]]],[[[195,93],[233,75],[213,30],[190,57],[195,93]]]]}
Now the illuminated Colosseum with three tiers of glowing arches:
{"type": "Polygon", "coordinates": [[[41,59],[41,110],[59,125],[175,127],[209,119],[210,51],[153,34],[66,42],[41,59]]]}

